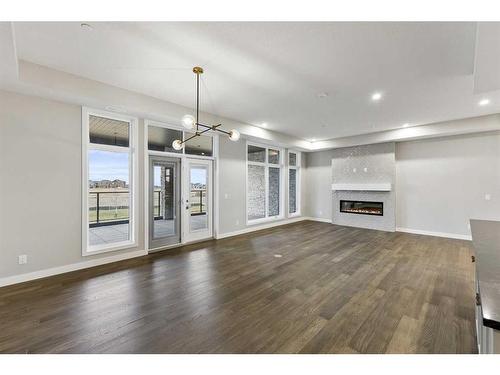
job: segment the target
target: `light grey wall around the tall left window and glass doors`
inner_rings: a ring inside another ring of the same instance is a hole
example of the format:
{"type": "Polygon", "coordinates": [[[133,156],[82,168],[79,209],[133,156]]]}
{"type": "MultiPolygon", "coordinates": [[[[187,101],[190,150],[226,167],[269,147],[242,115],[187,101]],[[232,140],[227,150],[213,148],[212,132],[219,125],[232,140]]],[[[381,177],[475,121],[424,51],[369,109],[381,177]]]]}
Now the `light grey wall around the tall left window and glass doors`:
{"type": "MultiPolygon", "coordinates": [[[[138,246],[82,257],[81,107],[0,90],[0,279],[144,250],[143,123],[138,246]],[[20,254],[28,264],[18,264],[20,254]]],[[[246,142],[221,137],[219,149],[218,233],[224,235],[248,228],[246,142]]]]}

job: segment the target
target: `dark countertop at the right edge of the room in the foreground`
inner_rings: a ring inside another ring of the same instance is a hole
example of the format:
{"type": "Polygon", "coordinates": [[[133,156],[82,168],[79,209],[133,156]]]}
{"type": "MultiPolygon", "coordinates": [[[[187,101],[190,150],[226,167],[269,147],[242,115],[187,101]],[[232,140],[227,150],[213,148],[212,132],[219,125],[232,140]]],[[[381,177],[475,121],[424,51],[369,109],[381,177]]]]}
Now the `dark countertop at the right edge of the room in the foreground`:
{"type": "Polygon", "coordinates": [[[500,329],[500,221],[471,220],[483,324],[500,329]]]}

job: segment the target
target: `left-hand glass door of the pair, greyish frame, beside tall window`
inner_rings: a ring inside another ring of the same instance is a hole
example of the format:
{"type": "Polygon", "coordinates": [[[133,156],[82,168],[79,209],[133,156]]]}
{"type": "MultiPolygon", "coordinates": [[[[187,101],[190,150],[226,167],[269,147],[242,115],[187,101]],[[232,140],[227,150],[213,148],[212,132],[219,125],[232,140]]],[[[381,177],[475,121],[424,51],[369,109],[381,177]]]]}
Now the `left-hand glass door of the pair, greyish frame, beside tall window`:
{"type": "Polygon", "coordinates": [[[149,157],[149,249],[181,242],[181,163],[149,157]]]}

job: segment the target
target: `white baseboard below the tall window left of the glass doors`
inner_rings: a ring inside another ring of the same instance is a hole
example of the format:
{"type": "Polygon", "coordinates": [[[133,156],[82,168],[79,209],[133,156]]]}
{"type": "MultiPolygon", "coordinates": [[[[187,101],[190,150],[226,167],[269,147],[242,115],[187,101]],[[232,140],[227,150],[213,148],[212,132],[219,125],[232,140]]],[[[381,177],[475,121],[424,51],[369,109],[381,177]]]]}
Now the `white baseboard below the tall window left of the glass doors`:
{"type": "Polygon", "coordinates": [[[8,277],[4,277],[4,278],[0,279],[0,287],[12,285],[12,284],[23,283],[25,281],[41,279],[41,278],[48,277],[48,276],[60,275],[62,273],[77,271],[77,270],[81,270],[84,268],[101,266],[103,264],[118,262],[120,260],[137,258],[137,257],[143,256],[143,255],[148,255],[148,252],[146,250],[136,250],[136,251],[131,251],[131,252],[124,253],[124,254],[117,254],[117,255],[113,255],[113,256],[109,256],[109,257],[105,257],[105,258],[91,259],[91,260],[86,260],[83,262],[68,264],[65,266],[53,267],[53,268],[48,268],[45,270],[23,273],[21,275],[8,276],[8,277]]]}

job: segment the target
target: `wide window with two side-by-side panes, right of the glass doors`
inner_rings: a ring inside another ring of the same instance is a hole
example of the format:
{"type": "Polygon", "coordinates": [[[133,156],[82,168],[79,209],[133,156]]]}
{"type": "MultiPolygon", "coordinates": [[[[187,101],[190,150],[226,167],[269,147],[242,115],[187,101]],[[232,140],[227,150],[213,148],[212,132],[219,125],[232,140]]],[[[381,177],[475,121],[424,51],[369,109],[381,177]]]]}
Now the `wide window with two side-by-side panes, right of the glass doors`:
{"type": "Polygon", "coordinates": [[[247,220],[283,216],[282,155],[274,147],[247,145],[247,220]]]}

